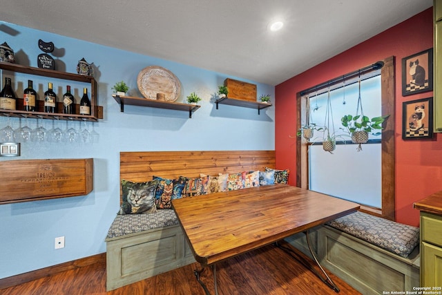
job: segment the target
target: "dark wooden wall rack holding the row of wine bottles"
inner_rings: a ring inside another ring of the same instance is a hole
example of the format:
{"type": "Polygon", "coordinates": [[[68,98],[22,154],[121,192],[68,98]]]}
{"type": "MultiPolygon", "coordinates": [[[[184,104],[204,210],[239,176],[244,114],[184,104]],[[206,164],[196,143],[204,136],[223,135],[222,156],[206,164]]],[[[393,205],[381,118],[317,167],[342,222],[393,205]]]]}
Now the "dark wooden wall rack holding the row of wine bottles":
{"type": "MultiPolygon", "coordinates": [[[[68,115],[64,113],[44,113],[44,102],[41,100],[37,101],[36,112],[28,111],[11,111],[0,109],[0,115],[10,116],[10,117],[30,117],[39,119],[50,119],[50,120],[78,120],[78,121],[93,121],[97,122],[99,119],[103,119],[103,107],[97,106],[97,82],[92,76],[78,75],[74,73],[60,72],[58,70],[47,70],[45,68],[32,68],[30,66],[21,66],[19,64],[10,64],[6,62],[0,62],[0,70],[9,70],[16,73],[24,73],[28,75],[51,77],[57,79],[65,79],[76,82],[84,82],[90,84],[90,115],[68,115]]],[[[21,109],[23,106],[23,99],[17,97],[17,108],[21,109]]],[[[75,105],[78,108],[78,105],[75,105]]],[[[63,110],[63,104],[57,102],[57,110],[63,110]]]]}

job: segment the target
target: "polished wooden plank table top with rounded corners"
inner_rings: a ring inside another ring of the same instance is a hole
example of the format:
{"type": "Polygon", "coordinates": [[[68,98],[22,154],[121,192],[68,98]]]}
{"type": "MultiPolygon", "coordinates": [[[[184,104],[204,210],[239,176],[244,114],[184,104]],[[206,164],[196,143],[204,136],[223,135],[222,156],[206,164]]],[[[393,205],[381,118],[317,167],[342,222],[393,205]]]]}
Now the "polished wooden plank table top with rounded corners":
{"type": "Polygon", "coordinates": [[[172,200],[195,260],[210,265],[359,209],[287,184],[172,200]]]}

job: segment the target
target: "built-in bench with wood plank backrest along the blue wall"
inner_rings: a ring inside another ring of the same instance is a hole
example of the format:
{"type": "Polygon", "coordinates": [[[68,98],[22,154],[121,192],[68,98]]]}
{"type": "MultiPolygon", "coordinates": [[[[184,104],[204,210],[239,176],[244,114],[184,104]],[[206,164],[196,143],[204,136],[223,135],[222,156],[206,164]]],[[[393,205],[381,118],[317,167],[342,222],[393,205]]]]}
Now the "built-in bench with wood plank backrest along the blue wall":
{"type": "MultiPolygon", "coordinates": [[[[146,182],[275,167],[274,151],[153,151],[120,153],[120,182],[146,182]]],[[[120,196],[122,193],[120,192],[120,196]]],[[[122,200],[120,200],[122,202],[122,200]]],[[[117,215],[106,237],[106,289],[195,262],[173,209],[117,215]]]]}

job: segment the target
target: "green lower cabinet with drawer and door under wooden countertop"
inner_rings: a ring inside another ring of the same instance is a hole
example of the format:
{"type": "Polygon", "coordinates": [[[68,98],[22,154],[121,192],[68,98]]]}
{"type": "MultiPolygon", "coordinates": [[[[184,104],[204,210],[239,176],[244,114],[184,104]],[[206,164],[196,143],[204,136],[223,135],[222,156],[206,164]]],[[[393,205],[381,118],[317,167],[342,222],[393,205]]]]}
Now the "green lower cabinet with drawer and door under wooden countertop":
{"type": "Polygon", "coordinates": [[[421,286],[442,286],[442,216],[423,211],[421,211],[421,286]]]}

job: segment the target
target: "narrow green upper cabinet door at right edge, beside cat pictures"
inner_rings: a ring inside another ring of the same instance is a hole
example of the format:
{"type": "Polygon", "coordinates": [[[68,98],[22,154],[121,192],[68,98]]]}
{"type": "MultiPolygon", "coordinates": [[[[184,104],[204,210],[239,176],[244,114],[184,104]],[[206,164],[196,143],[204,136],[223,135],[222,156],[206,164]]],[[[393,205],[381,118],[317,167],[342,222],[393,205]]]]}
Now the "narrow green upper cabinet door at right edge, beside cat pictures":
{"type": "MultiPolygon", "coordinates": [[[[441,5],[442,6],[442,5],[441,5]]],[[[441,8],[442,9],[442,8],[441,8]]],[[[434,24],[434,131],[442,132],[442,21],[434,24]]]]}

